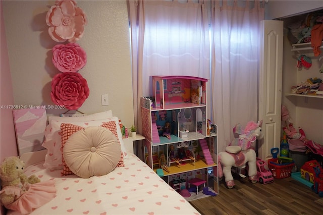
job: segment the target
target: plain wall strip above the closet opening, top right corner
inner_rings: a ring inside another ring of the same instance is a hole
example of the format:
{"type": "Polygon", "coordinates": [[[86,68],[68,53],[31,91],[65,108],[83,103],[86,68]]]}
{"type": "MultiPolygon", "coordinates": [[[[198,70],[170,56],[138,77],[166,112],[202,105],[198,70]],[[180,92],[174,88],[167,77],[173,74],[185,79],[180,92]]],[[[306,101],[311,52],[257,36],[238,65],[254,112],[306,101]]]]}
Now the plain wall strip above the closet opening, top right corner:
{"type": "Polygon", "coordinates": [[[265,19],[278,19],[290,15],[302,14],[312,10],[323,9],[323,1],[320,0],[269,0],[265,7],[265,19]]]}

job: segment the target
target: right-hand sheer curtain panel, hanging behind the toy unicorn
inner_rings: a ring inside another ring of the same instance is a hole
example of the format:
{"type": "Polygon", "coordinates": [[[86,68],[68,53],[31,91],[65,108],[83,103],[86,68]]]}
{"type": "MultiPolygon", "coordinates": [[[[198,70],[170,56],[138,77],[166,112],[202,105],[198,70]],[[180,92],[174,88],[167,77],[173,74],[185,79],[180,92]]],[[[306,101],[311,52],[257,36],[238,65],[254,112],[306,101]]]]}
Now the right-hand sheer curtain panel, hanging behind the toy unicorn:
{"type": "Polygon", "coordinates": [[[212,117],[218,125],[218,148],[234,138],[240,123],[257,122],[260,1],[213,1],[212,26],[212,117]],[[252,4],[252,5],[251,5],[252,4]]]}

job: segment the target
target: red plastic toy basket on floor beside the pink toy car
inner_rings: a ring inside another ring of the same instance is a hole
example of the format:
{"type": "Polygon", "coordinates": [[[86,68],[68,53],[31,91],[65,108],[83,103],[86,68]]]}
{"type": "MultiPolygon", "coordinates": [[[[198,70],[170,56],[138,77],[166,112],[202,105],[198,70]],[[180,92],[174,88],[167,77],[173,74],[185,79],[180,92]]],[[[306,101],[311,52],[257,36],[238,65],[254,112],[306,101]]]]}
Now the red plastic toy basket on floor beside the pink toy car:
{"type": "Polygon", "coordinates": [[[274,178],[282,179],[291,176],[294,160],[286,164],[278,164],[278,158],[268,159],[268,168],[272,171],[274,178]]]}

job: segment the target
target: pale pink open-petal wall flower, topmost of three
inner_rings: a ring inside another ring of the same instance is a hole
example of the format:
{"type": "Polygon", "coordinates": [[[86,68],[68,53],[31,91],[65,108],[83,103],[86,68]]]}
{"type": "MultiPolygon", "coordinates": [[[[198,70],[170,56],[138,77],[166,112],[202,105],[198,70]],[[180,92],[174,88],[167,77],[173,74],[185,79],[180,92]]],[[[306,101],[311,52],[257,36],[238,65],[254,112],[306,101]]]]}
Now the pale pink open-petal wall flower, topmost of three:
{"type": "Polygon", "coordinates": [[[56,1],[46,14],[49,36],[56,42],[76,42],[83,36],[87,17],[75,1],[56,1]]]}

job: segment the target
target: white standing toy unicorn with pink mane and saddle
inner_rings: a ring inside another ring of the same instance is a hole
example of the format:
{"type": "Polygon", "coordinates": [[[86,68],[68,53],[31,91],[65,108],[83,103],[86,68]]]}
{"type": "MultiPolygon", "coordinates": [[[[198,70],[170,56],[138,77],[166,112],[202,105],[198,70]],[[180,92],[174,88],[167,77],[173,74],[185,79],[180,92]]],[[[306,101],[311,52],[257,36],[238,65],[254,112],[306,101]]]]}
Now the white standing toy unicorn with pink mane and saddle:
{"type": "MultiPolygon", "coordinates": [[[[246,163],[248,163],[249,167],[249,179],[252,183],[257,182],[257,155],[254,151],[254,145],[255,140],[263,138],[261,125],[262,121],[258,123],[250,121],[245,128],[237,124],[233,128],[233,133],[236,138],[226,147],[226,151],[218,154],[219,178],[225,177],[229,189],[235,185],[231,168],[237,167],[238,169],[243,169],[246,163]]],[[[245,177],[243,175],[240,176],[245,177]]]]}

